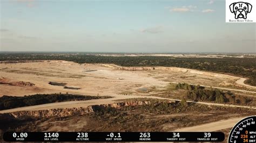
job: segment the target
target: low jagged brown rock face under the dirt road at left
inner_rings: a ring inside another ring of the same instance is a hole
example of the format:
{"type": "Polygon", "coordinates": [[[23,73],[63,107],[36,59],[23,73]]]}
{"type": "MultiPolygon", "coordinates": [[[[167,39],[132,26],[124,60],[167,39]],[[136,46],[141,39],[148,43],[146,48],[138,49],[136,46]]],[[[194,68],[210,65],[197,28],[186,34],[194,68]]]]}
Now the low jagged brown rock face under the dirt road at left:
{"type": "Polygon", "coordinates": [[[122,108],[124,106],[137,106],[150,104],[149,101],[131,101],[131,102],[120,102],[113,104],[103,105],[92,105],[86,108],[65,108],[65,109],[50,109],[50,110],[39,110],[39,111],[19,111],[11,113],[0,114],[0,120],[12,120],[15,118],[50,118],[50,117],[70,117],[75,115],[85,115],[87,113],[95,112],[99,109],[105,109],[107,107],[122,108]]]}

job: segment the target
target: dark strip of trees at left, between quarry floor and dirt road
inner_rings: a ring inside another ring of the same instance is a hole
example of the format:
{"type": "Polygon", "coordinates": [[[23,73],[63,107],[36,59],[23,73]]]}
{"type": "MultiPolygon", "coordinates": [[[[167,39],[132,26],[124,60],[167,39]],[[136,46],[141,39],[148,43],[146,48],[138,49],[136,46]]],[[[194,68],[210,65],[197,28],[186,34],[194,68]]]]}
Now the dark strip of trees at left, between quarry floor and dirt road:
{"type": "Polygon", "coordinates": [[[19,108],[23,106],[32,106],[46,103],[64,102],[64,101],[86,101],[90,99],[110,98],[110,96],[85,96],[71,94],[36,94],[23,97],[2,96],[0,97],[0,110],[19,108]]]}

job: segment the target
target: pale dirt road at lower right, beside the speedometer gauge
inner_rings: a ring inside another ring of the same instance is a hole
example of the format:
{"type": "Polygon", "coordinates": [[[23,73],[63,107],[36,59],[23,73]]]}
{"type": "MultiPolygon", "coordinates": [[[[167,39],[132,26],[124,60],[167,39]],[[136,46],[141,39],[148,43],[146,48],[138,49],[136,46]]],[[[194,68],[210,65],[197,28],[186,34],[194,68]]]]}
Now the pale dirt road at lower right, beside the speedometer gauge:
{"type": "Polygon", "coordinates": [[[214,121],[212,123],[207,123],[198,126],[179,128],[174,132],[213,132],[223,130],[225,128],[233,127],[242,118],[245,117],[231,118],[227,120],[214,121]]]}

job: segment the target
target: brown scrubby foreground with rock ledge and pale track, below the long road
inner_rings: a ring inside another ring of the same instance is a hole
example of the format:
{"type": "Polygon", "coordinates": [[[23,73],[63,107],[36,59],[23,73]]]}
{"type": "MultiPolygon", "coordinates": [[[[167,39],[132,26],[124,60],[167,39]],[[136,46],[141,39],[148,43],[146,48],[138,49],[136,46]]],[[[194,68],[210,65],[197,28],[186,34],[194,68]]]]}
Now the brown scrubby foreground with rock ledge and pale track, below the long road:
{"type": "Polygon", "coordinates": [[[19,131],[209,132],[232,127],[242,117],[254,115],[256,112],[242,108],[183,104],[149,98],[126,99],[119,104],[93,105],[89,109],[92,110],[86,108],[54,110],[54,114],[45,110],[24,111],[8,114],[9,116],[5,114],[2,117],[6,119],[19,117],[14,120],[17,123],[24,123],[23,126],[12,125],[14,123],[12,120],[5,123],[10,124],[12,130],[19,131]]]}

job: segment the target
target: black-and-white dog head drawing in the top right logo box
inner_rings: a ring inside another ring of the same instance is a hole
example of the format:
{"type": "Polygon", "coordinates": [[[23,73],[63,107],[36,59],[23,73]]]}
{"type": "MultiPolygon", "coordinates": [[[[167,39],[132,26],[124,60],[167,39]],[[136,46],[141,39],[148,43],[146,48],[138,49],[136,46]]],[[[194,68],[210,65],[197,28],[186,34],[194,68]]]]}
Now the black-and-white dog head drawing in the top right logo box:
{"type": "Polygon", "coordinates": [[[247,13],[252,11],[252,5],[250,3],[237,2],[230,5],[230,11],[234,13],[235,19],[247,18],[247,13]]]}

